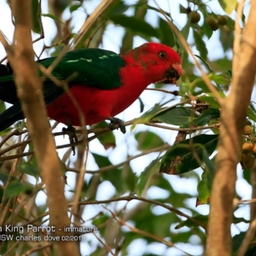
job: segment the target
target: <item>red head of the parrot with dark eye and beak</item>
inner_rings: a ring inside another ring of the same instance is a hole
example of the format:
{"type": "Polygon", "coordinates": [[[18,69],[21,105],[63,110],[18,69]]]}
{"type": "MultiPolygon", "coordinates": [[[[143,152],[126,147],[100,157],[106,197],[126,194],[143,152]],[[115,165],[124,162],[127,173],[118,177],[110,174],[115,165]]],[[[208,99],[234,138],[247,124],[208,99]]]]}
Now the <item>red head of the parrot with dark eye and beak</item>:
{"type": "MultiPolygon", "coordinates": [[[[150,83],[174,83],[182,74],[182,60],[179,54],[167,45],[146,43],[125,53],[144,70],[150,83]]],[[[131,63],[132,65],[132,63],[131,63]]]]}

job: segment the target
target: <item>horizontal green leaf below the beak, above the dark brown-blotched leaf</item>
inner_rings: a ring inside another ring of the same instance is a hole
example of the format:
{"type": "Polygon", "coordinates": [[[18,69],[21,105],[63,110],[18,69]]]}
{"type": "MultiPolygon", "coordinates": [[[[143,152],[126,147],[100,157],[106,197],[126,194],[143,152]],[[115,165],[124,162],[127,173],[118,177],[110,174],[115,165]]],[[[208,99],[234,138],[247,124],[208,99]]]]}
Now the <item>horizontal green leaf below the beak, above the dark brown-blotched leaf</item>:
{"type": "MultiPolygon", "coordinates": [[[[162,111],[164,108],[161,108],[162,111]]],[[[168,109],[166,111],[156,115],[152,118],[155,122],[163,122],[165,124],[173,124],[173,125],[186,125],[196,120],[198,115],[191,109],[185,107],[177,107],[168,109]]]]}

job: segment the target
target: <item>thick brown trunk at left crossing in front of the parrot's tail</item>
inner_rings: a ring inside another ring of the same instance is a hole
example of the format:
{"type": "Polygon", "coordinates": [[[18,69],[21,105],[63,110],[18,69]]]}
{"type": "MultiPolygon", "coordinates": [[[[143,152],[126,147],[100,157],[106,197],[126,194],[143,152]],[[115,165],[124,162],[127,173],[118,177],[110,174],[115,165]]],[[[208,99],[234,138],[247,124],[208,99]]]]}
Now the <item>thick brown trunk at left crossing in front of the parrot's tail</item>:
{"type": "MultiPolygon", "coordinates": [[[[50,223],[56,228],[54,235],[68,235],[63,226],[69,226],[64,184],[61,177],[54,139],[45,111],[42,82],[34,62],[31,39],[31,1],[12,1],[15,19],[13,51],[6,47],[8,59],[12,65],[17,94],[22,110],[28,118],[29,134],[35,146],[35,156],[41,170],[41,176],[47,190],[47,205],[50,223]],[[38,118],[39,117],[39,118],[38,118]]],[[[58,241],[55,244],[58,255],[80,255],[75,242],[58,241]]]]}

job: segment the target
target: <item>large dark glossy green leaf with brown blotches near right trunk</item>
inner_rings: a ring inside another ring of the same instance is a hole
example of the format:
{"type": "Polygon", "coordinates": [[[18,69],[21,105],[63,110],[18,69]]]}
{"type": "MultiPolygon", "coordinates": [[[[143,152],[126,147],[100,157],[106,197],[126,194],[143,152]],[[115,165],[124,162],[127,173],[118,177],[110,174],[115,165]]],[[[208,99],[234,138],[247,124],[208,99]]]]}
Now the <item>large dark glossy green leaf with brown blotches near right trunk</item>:
{"type": "Polygon", "coordinates": [[[189,172],[201,166],[204,149],[209,156],[214,152],[218,143],[218,135],[201,134],[173,145],[164,154],[159,172],[180,174],[189,172]],[[201,163],[195,159],[195,155],[201,163]]]}

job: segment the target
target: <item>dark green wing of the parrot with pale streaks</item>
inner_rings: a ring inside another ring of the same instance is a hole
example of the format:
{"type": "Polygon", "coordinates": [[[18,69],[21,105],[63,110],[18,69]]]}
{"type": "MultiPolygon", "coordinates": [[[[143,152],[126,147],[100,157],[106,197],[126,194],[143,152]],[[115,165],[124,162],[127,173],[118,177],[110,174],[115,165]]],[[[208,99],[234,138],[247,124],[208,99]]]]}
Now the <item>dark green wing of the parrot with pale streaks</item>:
{"type": "MultiPolygon", "coordinates": [[[[54,59],[40,61],[40,64],[49,67],[54,59]]],[[[122,85],[119,70],[124,66],[125,61],[115,52],[102,49],[79,49],[67,52],[52,74],[58,79],[67,79],[76,74],[71,84],[88,84],[109,90],[122,85]]]]}

